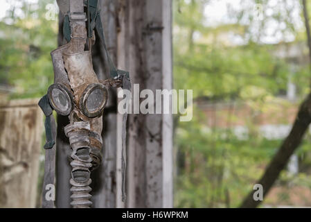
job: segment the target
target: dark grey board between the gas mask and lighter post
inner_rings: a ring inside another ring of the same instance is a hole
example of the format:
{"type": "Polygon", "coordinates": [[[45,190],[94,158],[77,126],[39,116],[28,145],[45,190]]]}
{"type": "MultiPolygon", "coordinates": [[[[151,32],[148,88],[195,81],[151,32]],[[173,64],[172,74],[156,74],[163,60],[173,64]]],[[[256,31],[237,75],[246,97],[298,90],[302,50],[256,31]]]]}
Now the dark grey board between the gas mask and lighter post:
{"type": "MultiPolygon", "coordinates": [[[[100,17],[103,22],[107,47],[112,60],[116,61],[116,3],[117,1],[99,1],[100,17]]],[[[107,79],[109,69],[105,59],[105,51],[96,37],[93,47],[93,66],[99,79],[107,79]]],[[[116,89],[109,89],[109,99],[103,115],[103,161],[100,167],[91,172],[92,207],[116,207],[116,89]]]]}

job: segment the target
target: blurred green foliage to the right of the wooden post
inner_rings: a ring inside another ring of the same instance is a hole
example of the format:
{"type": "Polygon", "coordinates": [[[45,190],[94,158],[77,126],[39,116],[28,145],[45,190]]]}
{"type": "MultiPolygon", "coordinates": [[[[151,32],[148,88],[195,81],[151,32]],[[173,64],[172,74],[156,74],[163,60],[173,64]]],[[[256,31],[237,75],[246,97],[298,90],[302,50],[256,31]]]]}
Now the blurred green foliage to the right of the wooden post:
{"type": "MultiPolygon", "coordinates": [[[[288,62],[275,52],[283,45],[301,42],[305,45],[303,26],[294,25],[297,17],[303,18],[299,14],[293,15],[292,5],[278,1],[273,13],[264,13],[263,19],[256,20],[251,13],[252,7],[257,3],[267,9],[271,2],[241,1],[238,9],[231,10],[233,22],[211,25],[207,23],[204,9],[220,1],[174,1],[175,88],[193,89],[194,96],[193,120],[175,121],[176,207],[238,207],[281,145],[281,139],[266,139],[260,135],[254,119],[247,116],[249,135],[246,139],[237,137],[231,127],[208,127],[208,118],[217,119],[217,114],[206,116],[198,105],[204,101],[215,107],[217,103],[234,101],[249,105],[251,113],[265,113],[275,109],[280,101],[285,107],[291,104],[280,98],[286,96],[295,62],[288,62]],[[277,43],[265,44],[264,36],[260,35],[265,33],[265,26],[272,19],[283,24],[280,30],[279,26],[274,29],[284,36],[292,35],[293,40],[288,42],[284,37],[277,43]],[[255,26],[258,29],[254,31],[255,26]],[[240,41],[234,43],[237,36],[240,41]]],[[[301,53],[308,56],[308,51],[301,53]]],[[[309,92],[308,64],[295,65],[294,73],[292,82],[296,83],[299,99],[295,104],[298,106],[309,92]]],[[[228,118],[238,117],[231,114],[228,118]]],[[[288,120],[284,123],[288,124],[288,120]]],[[[311,182],[306,180],[311,160],[310,141],[308,135],[296,152],[300,173],[289,176],[284,171],[276,185],[310,189],[311,182]]],[[[286,195],[281,193],[278,200],[284,203],[286,195]]],[[[265,203],[269,204],[269,199],[265,203]]]]}

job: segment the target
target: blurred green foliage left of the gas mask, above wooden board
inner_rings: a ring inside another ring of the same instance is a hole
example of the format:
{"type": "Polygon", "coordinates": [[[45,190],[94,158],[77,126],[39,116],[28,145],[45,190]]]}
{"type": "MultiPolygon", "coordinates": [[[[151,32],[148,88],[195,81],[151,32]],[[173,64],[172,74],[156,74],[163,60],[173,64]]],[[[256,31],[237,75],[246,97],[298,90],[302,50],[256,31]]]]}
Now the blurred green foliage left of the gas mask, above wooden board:
{"type": "Polygon", "coordinates": [[[55,2],[10,1],[0,19],[0,80],[14,87],[12,98],[40,97],[53,82],[50,52],[58,27],[57,16],[46,16],[49,3],[55,2]]]}

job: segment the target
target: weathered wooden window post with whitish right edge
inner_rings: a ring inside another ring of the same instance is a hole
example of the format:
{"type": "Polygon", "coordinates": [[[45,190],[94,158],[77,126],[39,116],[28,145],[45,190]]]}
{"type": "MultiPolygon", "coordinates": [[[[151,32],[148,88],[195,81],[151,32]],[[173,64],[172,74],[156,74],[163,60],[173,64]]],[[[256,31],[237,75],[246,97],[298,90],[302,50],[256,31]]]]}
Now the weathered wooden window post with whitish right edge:
{"type": "MultiPolygon", "coordinates": [[[[172,2],[119,2],[118,66],[140,90],[171,89],[172,2]]],[[[172,207],[172,115],[136,113],[128,122],[127,207],[172,207]]]]}

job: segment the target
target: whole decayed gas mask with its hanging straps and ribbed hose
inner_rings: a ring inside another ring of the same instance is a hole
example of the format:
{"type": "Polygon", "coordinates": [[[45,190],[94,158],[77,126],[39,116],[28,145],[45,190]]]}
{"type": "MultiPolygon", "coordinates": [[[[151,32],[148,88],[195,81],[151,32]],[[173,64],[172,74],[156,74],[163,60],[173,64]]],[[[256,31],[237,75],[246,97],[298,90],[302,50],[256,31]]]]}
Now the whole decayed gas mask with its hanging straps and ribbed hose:
{"type": "MultiPolygon", "coordinates": [[[[91,206],[90,173],[102,161],[103,113],[108,99],[109,87],[130,89],[129,75],[126,71],[115,68],[110,59],[103,35],[96,0],[63,0],[57,1],[65,15],[64,37],[67,44],[51,52],[53,60],[54,84],[48,87],[47,94],[39,101],[39,106],[46,115],[46,152],[55,147],[55,120],[53,110],[57,114],[69,117],[69,125],[64,128],[71,146],[71,205],[73,207],[91,206]],[[66,28],[67,27],[67,28],[66,28]],[[112,78],[98,80],[91,60],[91,45],[94,43],[93,29],[105,48],[109,70],[112,78]],[[69,35],[68,35],[69,33],[69,35]],[[85,47],[89,50],[85,51],[85,47]]],[[[127,116],[126,116],[127,117],[127,116]]],[[[123,127],[126,124],[123,117],[123,127]]],[[[125,130],[122,130],[125,132],[125,130]]],[[[124,133],[123,133],[124,134],[124,133]]],[[[123,152],[125,151],[125,135],[123,152]]],[[[53,154],[55,155],[55,153],[53,154]]],[[[55,158],[55,157],[54,157],[55,158]]],[[[46,162],[48,164],[48,162],[46,162]]],[[[50,167],[51,168],[51,167],[50,167]]],[[[48,169],[46,167],[45,169],[48,169]]],[[[125,157],[123,155],[123,200],[125,157]]],[[[45,172],[53,177],[52,172],[45,172]]],[[[52,181],[49,179],[48,181],[52,181]]],[[[43,203],[46,201],[43,199],[43,203]]],[[[46,203],[48,205],[48,203],[46,203]]]]}

